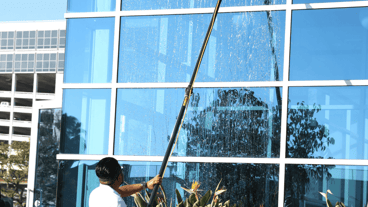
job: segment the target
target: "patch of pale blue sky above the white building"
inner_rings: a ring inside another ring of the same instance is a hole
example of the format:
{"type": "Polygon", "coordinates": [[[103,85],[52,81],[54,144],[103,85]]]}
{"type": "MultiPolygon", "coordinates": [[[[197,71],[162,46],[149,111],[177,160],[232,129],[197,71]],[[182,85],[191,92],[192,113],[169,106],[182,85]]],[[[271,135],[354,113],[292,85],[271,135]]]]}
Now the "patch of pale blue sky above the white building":
{"type": "Polygon", "coordinates": [[[67,0],[0,0],[0,22],[61,20],[67,0]]]}

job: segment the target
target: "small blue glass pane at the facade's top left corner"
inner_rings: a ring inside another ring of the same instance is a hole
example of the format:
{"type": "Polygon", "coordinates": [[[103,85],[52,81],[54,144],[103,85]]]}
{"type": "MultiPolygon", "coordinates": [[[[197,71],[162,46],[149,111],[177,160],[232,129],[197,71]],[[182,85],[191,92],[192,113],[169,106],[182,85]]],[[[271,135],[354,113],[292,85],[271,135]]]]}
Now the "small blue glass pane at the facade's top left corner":
{"type": "Polygon", "coordinates": [[[67,12],[115,11],[116,0],[68,0],[67,12]]]}

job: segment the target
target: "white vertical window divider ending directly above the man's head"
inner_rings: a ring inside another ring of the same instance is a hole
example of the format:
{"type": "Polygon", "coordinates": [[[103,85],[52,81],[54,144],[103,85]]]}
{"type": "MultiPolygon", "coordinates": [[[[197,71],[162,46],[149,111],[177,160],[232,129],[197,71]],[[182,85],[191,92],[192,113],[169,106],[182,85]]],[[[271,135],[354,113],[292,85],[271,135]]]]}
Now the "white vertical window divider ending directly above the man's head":
{"type": "Polygon", "coordinates": [[[115,30],[114,30],[114,52],[112,66],[112,87],[111,87],[111,108],[110,108],[110,129],[109,129],[109,147],[108,155],[114,154],[114,136],[115,136],[115,112],[116,112],[116,90],[117,77],[119,69],[119,39],[120,39],[120,15],[117,11],[120,10],[121,1],[116,0],[116,15],[115,15],[115,30]]]}

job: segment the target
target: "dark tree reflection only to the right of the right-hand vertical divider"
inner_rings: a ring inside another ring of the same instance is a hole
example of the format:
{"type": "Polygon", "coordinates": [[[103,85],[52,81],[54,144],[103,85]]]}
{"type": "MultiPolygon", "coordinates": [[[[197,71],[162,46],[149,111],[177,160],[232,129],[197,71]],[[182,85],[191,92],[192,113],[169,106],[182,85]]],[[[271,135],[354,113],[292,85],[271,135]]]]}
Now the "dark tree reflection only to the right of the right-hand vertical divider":
{"type": "MultiPolygon", "coordinates": [[[[314,153],[325,151],[327,146],[335,143],[334,138],[329,136],[327,128],[319,124],[315,118],[315,114],[319,111],[321,111],[320,106],[313,105],[310,109],[303,102],[297,103],[296,109],[289,108],[286,145],[288,158],[323,159],[321,156],[315,156],[314,153]]],[[[309,183],[322,180],[323,177],[331,178],[329,170],[334,167],[334,165],[287,165],[285,205],[304,206],[301,202],[305,200],[304,195],[309,183]]]]}

